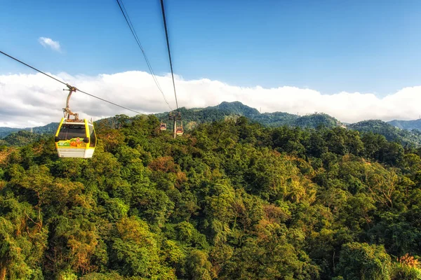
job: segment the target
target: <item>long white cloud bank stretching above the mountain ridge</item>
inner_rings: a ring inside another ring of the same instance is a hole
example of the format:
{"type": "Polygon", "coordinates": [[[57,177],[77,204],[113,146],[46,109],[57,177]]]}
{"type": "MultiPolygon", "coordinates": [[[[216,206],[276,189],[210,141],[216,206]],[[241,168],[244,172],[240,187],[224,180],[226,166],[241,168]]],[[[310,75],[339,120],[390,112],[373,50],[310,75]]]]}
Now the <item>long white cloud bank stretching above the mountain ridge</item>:
{"type": "MultiPolygon", "coordinates": [[[[128,71],[98,76],[71,76],[58,73],[56,77],[81,90],[126,106],[142,113],[169,111],[161,92],[149,73],[128,71]]],[[[168,102],[175,108],[171,76],[157,76],[168,102]]],[[[238,87],[218,80],[184,80],[176,76],[179,106],[205,107],[220,102],[239,101],[263,112],[288,113],[323,112],[345,123],[360,120],[410,120],[420,115],[421,86],[405,87],[380,98],[372,93],[338,92],[322,94],[298,87],[263,88],[238,87]]],[[[37,74],[9,74],[0,76],[0,127],[31,127],[62,118],[67,92],[57,81],[37,74]]],[[[70,100],[70,109],[82,118],[98,120],[107,116],[135,113],[107,104],[81,92],[70,100]]]]}

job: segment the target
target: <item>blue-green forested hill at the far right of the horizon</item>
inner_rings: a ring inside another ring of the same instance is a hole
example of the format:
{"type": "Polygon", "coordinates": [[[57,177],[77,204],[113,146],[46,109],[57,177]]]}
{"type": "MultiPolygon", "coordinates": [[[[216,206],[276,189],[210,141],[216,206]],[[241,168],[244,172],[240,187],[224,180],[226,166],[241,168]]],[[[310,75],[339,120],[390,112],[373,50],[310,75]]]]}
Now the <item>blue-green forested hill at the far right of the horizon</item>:
{"type": "Polygon", "coordinates": [[[348,125],[351,130],[359,132],[373,132],[386,137],[387,141],[397,141],[403,145],[410,144],[419,146],[421,144],[420,130],[401,130],[382,120],[363,120],[359,123],[348,125]]]}

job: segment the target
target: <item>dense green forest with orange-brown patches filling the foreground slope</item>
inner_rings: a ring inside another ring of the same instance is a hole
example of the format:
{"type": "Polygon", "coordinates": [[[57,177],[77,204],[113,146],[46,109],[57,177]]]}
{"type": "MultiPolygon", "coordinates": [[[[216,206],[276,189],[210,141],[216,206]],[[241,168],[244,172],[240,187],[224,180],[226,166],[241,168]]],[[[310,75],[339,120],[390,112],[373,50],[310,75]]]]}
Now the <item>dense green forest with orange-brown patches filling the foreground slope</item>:
{"type": "MultiPolygon", "coordinates": [[[[421,279],[421,150],[247,118],[0,147],[0,279],[421,279]]],[[[35,141],[36,140],[36,141],[35,141]]]]}

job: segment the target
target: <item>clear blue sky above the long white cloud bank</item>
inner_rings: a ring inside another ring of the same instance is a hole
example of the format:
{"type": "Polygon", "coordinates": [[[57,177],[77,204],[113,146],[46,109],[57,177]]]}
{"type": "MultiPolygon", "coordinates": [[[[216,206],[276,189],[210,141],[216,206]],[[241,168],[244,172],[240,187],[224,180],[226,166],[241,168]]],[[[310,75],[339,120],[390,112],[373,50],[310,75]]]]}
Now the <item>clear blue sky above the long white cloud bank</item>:
{"type": "MultiPolygon", "coordinates": [[[[125,0],[155,73],[169,71],[158,0],[125,0]]],[[[230,85],[385,96],[421,80],[421,1],[166,1],[175,73],[230,85]]],[[[45,71],[147,66],[116,1],[0,1],[1,50],[45,71]],[[60,42],[44,48],[39,37],[60,42]]],[[[0,57],[0,73],[31,73],[0,57]]]]}

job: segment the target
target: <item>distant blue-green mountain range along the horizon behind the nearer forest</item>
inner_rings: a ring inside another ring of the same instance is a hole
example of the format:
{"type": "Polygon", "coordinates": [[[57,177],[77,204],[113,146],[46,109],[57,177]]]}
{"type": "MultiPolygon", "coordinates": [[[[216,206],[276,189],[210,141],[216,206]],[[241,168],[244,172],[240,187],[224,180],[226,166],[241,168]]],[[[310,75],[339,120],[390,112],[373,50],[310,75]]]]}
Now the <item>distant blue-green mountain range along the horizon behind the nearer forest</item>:
{"type": "MultiPolygon", "coordinates": [[[[249,106],[241,104],[241,102],[222,102],[217,106],[209,106],[206,108],[193,108],[186,109],[182,107],[179,109],[182,114],[182,123],[186,131],[192,130],[194,127],[201,123],[210,123],[218,120],[236,120],[241,116],[244,116],[254,122],[260,123],[267,127],[281,127],[287,125],[290,127],[309,127],[316,128],[319,126],[324,127],[345,127],[340,121],[325,114],[325,113],[314,113],[307,116],[298,116],[290,113],[260,113],[258,110],[253,109],[249,106]]],[[[173,130],[173,123],[168,120],[168,113],[157,113],[155,114],[159,120],[167,123],[168,130],[173,130]]],[[[128,120],[125,115],[119,115],[119,118],[105,118],[98,120],[96,123],[104,123],[110,127],[117,128],[123,122],[128,120]]],[[[408,121],[413,122],[411,124],[417,124],[417,120],[408,121]]],[[[407,131],[401,130],[394,125],[409,124],[404,121],[392,121],[385,123],[382,120],[364,120],[360,123],[347,125],[351,130],[358,130],[359,132],[373,132],[381,134],[386,137],[388,141],[398,141],[403,145],[410,144],[419,146],[421,145],[421,132],[419,130],[407,131]],[[397,123],[396,123],[397,122],[397,123]]],[[[34,134],[53,134],[57,130],[58,123],[50,123],[44,127],[34,127],[34,134]]],[[[407,125],[407,127],[409,127],[407,125]]],[[[26,144],[36,136],[30,136],[29,134],[13,134],[11,137],[3,139],[1,141],[1,133],[3,132],[3,138],[6,135],[11,134],[12,131],[18,129],[11,129],[8,127],[0,127],[0,145],[21,145],[26,144]]],[[[30,128],[25,128],[30,130],[30,128]]]]}

